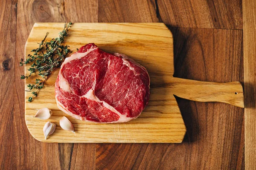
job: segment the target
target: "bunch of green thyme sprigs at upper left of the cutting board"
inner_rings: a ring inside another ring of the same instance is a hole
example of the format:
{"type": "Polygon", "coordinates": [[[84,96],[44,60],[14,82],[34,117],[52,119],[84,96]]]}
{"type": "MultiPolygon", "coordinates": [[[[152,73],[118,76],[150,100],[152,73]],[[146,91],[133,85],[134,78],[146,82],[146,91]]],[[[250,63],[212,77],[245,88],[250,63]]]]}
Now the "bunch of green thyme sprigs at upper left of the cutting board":
{"type": "Polygon", "coordinates": [[[32,102],[33,97],[38,95],[38,91],[44,87],[45,81],[55,70],[59,67],[63,59],[66,58],[67,54],[70,53],[69,46],[63,45],[64,38],[68,35],[68,30],[72,23],[65,23],[64,29],[59,32],[59,36],[53,38],[49,42],[46,40],[48,32],[46,33],[44,40],[42,40],[38,48],[33,49],[31,52],[34,52],[32,55],[28,54],[28,58],[23,61],[21,60],[20,66],[31,64],[28,71],[30,72],[28,76],[21,75],[20,79],[28,79],[33,73],[38,72],[38,76],[41,76],[41,79],[35,79],[35,84],[27,85],[29,91],[32,91],[32,96],[29,97],[28,101],[32,102]]]}

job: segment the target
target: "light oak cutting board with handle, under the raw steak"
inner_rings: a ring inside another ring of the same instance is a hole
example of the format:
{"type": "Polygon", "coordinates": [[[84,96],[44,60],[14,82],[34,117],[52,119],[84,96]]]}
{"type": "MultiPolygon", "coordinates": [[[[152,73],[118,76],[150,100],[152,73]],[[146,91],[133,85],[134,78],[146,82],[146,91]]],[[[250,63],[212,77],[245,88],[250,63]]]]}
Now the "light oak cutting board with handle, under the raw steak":
{"type": "MultiPolygon", "coordinates": [[[[35,23],[25,45],[25,59],[38,47],[46,32],[49,32],[47,40],[51,40],[63,27],[64,23],[35,23]]],[[[31,92],[25,92],[26,125],[35,139],[58,143],[180,143],[186,126],[174,95],[199,102],[224,102],[244,107],[240,82],[200,82],[173,77],[173,37],[163,23],[74,23],[65,39],[72,51],[90,42],[107,52],[126,54],[147,68],[151,78],[148,106],[137,119],[126,123],[96,124],[74,119],[56,105],[54,85],[59,71],[56,70],[31,103],[27,101],[31,92]],[[44,107],[52,110],[50,119],[32,117],[44,107]],[[62,116],[73,123],[75,134],[61,129],[59,120],[62,116]],[[47,121],[54,122],[56,130],[45,140],[43,127],[47,121]]],[[[28,68],[27,65],[26,75],[28,68]]],[[[35,78],[33,75],[25,81],[25,89],[35,78]]]]}

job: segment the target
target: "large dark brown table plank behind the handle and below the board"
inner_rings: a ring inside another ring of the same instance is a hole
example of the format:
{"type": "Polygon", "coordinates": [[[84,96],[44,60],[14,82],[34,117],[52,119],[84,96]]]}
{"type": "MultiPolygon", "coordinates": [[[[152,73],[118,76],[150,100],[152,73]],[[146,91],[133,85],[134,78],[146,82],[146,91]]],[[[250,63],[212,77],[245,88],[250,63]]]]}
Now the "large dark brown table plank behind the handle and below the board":
{"type": "MultiPolygon", "coordinates": [[[[171,28],[175,77],[243,82],[242,31],[171,28]]],[[[202,89],[203,90],[203,89],[202,89]]],[[[177,98],[181,144],[97,144],[96,169],[244,169],[244,109],[177,98]]]]}

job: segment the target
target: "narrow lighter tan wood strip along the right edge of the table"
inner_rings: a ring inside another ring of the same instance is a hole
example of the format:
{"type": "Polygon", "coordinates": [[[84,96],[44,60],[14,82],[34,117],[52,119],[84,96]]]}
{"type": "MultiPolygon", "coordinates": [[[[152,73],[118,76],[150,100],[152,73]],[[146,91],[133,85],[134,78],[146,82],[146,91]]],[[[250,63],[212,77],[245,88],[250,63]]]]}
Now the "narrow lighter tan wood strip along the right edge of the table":
{"type": "Polygon", "coordinates": [[[256,2],[243,0],[245,169],[256,169],[256,2]]]}

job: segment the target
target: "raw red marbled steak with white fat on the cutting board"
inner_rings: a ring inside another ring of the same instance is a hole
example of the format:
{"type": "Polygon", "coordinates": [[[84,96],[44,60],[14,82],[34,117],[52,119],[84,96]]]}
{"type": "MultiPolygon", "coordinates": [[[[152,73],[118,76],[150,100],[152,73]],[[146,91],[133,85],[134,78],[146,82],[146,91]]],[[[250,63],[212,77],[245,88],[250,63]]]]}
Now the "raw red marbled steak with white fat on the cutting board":
{"type": "Polygon", "coordinates": [[[67,57],[55,83],[58,108],[77,119],[116,123],[137,118],[149,100],[146,69],[95,44],[67,57]]]}

